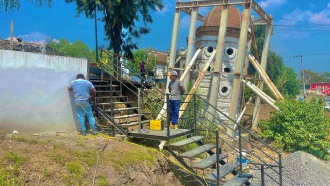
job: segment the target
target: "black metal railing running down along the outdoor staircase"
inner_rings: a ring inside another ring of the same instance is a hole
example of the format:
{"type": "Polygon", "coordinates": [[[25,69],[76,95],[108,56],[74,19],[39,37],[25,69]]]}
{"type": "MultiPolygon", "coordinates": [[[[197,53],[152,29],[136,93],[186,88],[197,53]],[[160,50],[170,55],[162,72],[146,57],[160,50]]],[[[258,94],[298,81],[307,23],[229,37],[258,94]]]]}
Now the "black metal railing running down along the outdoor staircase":
{"type": "MultiPolygon", "coordinates": [[[[152,112],[144,112],[144,108],[141,107],[140,101],[139,101],[139,118],[140,114],[145,114],[145,115],[158,115],[159,111],[163,108],[163,104],[166,103],[166,115],[162,115],[163,119],[166,120],[166,127],[167,127],[167,141],[168,143],[170,142],[171,139],[171,130],[170,130],[170,99],[169,96],[170,94],[165,94],[163,91],[155,87],[152,83],[149,81],[145,81],[146,83],[143,83],[142,80],[144,79],[143,77],[140,76],[139,73],[135,72],[131,68],[128,67],[127,64],[124,62],[116,59],[111,53],[107,53],[107,51],[102,51],[105,52],[106,57],[108,58],[107,63],[103,63],[101,68],[102,70],[107,71],[106,69],[112,70],[112,74],[117,74],[114,75],[113,78],[116,79],[122,86],[125,86],[127,90],[132,92],[134,95],[136,95],[139,100],[141,98],[141,102],[144,104],[148,105],[150,110],[152,112]],[[105,69],[106,67],[106,69],[105,69]],[[116,71],[115,69],[118,68],[125,68],[128,69],[129,71],[127,72],[126,70],[118,70],[116,71]],[[140,81],[132,83],[131,79],[129,77],[132,77],[132,75],[139,77],[140,81]],[[120,77],[118,77],[120,76],[120,77]],[[123,81],[124,80],[124,81],[123,81]],[[139,90],[138,93],[136,93],[134,90],[129,88],[127,86],[129,84],[130,86],[134,87],[135,90],[139,90]],[[140,89],[141,88],[141,89],[140,89]],[[144,91],[146,90],[147,93],[144,91]],[[152,91],[154,90],[154,92],[152,91]],[[158,94],[158,95],[157,95],[158,94]],[[152,96],[152,97],[151,97],[152,96]],[[166,98],[166,99],[165,99],[166,98]],[[164,101],[166,100],[166,102],[164,101]],[[151,105],[151,103],[154,103],[151,105]]],[[[109,73],[111,74],[111,73],[109,73]]],[[[144,79],[145,80],[145,79],[144,79]]],[[[211,105],[207,100],[203,99],[201,96],[198,94],[182,94],[183,96],[187,95],[193,95],[193,99],[188,103],[188,107],[185,109],[184,114],[179,117],[180,123],[185,122],[185,123],[192,123],[192,125],[187,125],[184,126],[187,129],[192,129],[194,130],[195,134],[203,134],[205,132],[208,132],[211,137],[209,137],[209,140],[211,142],[216,143],[216,150],[218,151],[219,148],[219,140],[222,141],[224,144],[228,145],[231,147],[235,152],[239,154],[239,176],[243,176],[243,164],[242,164],[242,159],[245,158],[249,161],[249,164],[254,165],[258,170],[261,171],[261,185],[264,186],[265,184],[265,179],[264,175],[268,176],[270,180],[273,180],[275,183],[278,185],[282,186],[282,157],[281,153],[278,152],[277,150],[273,149],[270,145],[266,144],[264,141],[259,139],[255,134],[250,132],[248,129],[237,123],[234,119],[230,118],[226,114],[224,114],[222,111],[217,109],[215,106],[211,105]],[[192,104],[192,105],[190,105],[192,104]],[[238,128],[238,139],[234,139],[232,136],[228,135],[226,131],[223,129],[223,126],[226,127],[226,130],[232,130],[233,132],[236,132],[232,127],[230,127],[226,121],[220,119],[220,117],[215,116],[211,112],[209,112],[209,108],[214,109],[217,113],[220,115],[224,116],[227,121],[230,121],[234,123],[237,128],[238,128]],[[188,113],[188,114],[186,114],[188,113]],[[202,114],[203,113],[203,114],[202,114]],[[188,115],[188,116],[185,116],[188,115]],[[189,116],[191,115],[191,116],[189,116]],[[255,141],[260,143],[263,147],[259,148],[257,145],[254,143],[250,142],[249,139],[245,138],[242,136],[242,134],[248,134],[250,137],[252,137],[255,141]],[[219,137],[219,135],[222,135],[223,137],[219,137]],[[214,137],[212,137],[214,136],[214,137]],[[235,148],[235,145],[229,144],[226,139],[231,139],[234,144],[238,145],[238,149],[235,148]],[[215,139],[215,141],[214,141],[215,139]],[[243,145],[243,140],[246,142],[246,144],[250,145],[252,147],[248,148],[246,145],[243,145]],[[264,148],[264,149],[263,149],[264,148]],[[249,158],[246,155],[243,155],[243,151],[247,152],[251,158],[253,157],[256,161],[258,162],[253,162],[252,160],[249,160],[249,158]],[[273,154],[270,155],[269,153],[266,153],[267,151],[271,152],[273,154]],[[261,157],[264,156],[266,158],[261,157]],[[274,157],[276,156],[276,157],[274,157]],[[271,163],[269,163],[271,162],[271,163]],[[262,165],[259,168],[259,165],[262,165]],[[275,169],[275,167],[278,167],[278,170],[275,169]],[[275,174],[270,174],[269,172],[265,172],[264,169],[268,168],[275,172],[275,174]],[[275,175],[275,176],[274,176],[275,175]],[[274,178],[276,177],[276,178],[274,178]]],[[[185,102],[182,102],[185,103],[185,102]]],[[[140,127],[139,131],[141,130],[141,119],[138,119],[137,121],[140,122],[140,127]]],[[[216,152],[218,154],[218,152],[216,152]]],[[[216,164],[216,169],[217,173],[219,171],[219,165],[218,161],[216,164]]]]}

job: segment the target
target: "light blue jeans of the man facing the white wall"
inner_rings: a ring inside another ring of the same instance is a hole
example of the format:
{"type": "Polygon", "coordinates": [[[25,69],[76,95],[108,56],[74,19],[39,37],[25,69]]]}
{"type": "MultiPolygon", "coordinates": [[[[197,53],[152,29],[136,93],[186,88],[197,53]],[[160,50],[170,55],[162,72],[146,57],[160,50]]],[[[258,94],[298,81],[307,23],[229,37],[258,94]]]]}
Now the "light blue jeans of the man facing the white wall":
{"type": "Polygon", "coordinates": [[[88,101],[77,101],[76,112],[80,123],[80,132],[86,131],[84,115],[86,115],[89,120],[90,128],[92,128],[92,130],[96,130],[92,107],[88,101]]]}

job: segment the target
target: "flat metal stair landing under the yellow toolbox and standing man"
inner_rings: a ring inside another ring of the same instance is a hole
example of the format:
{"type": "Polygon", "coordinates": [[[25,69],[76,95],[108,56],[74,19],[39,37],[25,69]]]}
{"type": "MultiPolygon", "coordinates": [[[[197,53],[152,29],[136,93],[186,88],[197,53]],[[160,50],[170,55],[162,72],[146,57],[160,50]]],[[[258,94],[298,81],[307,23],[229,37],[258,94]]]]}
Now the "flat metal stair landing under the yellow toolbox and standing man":
{"type": "MultiPolygon", "coordinates": [[[[170,129],[170,139],[178,138],[181,136],[187,136],[190,134],[193,134],[193,129],[182,129],[174,130],[170,129]]],[[[143,129],[141,130],[141,133],[139,131],[130,131],[127,132],[127,136],[129,137],[135,137],[135,138],[144,138],[144,139],[152,139],[152,140],[167,140],[167,128],[165,127],[164,130],[149,130],[149,129],[143,129]]]]}

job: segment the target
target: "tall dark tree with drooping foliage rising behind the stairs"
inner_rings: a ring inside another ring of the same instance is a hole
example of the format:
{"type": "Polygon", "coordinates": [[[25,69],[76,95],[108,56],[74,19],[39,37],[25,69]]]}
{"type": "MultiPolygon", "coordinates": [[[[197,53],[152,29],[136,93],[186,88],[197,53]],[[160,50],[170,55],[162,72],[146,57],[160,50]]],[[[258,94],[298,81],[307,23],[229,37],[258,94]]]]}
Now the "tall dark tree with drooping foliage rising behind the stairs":
{"type": "Polygon", "coordinates": [[[152,23],[149,10],[161,10],[164,5],[161,0],[66,0],[67,3],[75,2],[77,12],[80,15],[85,13],[87,18],[94,18],[94,10],[102,13],[101,21],[104,22],[106,39],[110,40],[109,49],[113,49],[116,54],[124,54],[132,58],[133,49],[137,49],[134,38],[140,38],[147,34],[150,28],[147,23],[152,23]],[[142,20],[143,26],[136,24],[142,20]]]}

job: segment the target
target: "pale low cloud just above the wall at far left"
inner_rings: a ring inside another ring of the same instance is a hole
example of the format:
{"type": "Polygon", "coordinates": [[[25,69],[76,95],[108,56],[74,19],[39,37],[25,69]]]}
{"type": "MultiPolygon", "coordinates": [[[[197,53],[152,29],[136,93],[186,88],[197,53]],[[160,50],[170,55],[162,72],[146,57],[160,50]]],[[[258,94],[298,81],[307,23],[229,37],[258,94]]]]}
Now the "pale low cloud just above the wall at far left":
{"type": "MultiPolygon", "coordinates": [[[[28,34],[21,34],[17,37],[14,37],[14,41],[17,41],[17,38],[20,37],[23,42],[27,43],[37,43],[37,44],[47,44],[50,41],[57,41],[53,37],[46,35],[44,33],[33,31],[28,34]]],[[[10,37],[7,38],[7,40],[10,40],[10,37]]]]}

